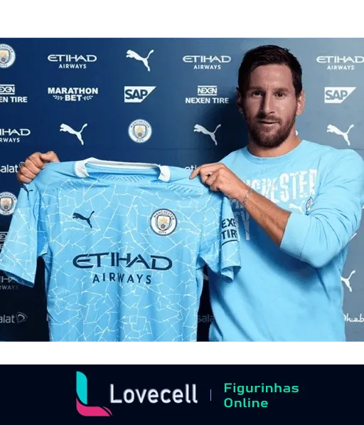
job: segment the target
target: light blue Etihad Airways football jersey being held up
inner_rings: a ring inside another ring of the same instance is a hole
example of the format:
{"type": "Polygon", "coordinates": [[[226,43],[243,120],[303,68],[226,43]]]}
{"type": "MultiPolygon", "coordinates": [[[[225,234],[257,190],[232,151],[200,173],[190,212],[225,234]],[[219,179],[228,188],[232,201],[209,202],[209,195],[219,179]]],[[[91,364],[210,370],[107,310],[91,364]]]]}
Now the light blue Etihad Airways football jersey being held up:
{"type": "Polygon", "coordinates": [[[53,342],[194,342],[205,264],[240,268],[230,201],[190,171],[89,158],[23,185],[0,270],[32,286],[45,261],[53,342]]]}

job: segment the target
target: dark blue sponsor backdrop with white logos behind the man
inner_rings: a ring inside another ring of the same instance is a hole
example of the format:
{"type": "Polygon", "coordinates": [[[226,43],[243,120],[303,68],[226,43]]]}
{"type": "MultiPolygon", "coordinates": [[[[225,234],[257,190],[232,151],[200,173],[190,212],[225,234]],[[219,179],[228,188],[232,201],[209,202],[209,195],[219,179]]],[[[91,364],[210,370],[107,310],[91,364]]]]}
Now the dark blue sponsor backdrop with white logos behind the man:
{"type": "MultiPolygon", "coordinates": [[[[244,146],[237,70],[247,50],[272,43],[304,69],[299,136],[363,154],[363,38],[0,39],[0,243],[17,164],[33,152],[193,169],[244,146]]],[[[350,241],[342,277],[348,341],[364,341],[363,238],[350,241]]],[[[48,340],[43,285],[41,263],[33,289],[0,276],[0,340],[48,340]]],[[[205,290],[199,340],[211,320],[205,290]]]]}

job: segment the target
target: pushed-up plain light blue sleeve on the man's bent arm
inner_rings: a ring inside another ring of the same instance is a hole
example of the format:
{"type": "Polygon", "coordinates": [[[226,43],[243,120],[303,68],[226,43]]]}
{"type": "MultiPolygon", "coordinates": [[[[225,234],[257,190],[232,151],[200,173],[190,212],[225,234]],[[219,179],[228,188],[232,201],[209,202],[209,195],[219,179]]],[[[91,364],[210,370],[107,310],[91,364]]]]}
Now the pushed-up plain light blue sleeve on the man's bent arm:
{"type": "Polygon", "coordinates": [[[307,214],[291,214],[280,248],[321,268],[358,231],[364,204],[364,162],[352,149],[338,150],[307,214]]]}

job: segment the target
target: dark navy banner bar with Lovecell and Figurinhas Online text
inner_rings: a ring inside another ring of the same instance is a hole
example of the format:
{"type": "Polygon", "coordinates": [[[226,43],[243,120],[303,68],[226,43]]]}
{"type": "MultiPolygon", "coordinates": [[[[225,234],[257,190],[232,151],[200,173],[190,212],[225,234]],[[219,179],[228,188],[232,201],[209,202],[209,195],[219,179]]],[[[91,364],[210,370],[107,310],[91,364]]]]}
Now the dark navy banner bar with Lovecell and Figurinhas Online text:
{"type": "Polygon", "coordinates": [[[33,419],[74,424],[84,421],[82,416],[104,416],[119,424],[247,423],[277,415],[314,421],[322,414],[329,421],[346,414],[349,405],[352,415],[361,409],[361,393],[353,387],[358,371],[340,361],[8,364],[0,372],[4,424],[33,419]]]}

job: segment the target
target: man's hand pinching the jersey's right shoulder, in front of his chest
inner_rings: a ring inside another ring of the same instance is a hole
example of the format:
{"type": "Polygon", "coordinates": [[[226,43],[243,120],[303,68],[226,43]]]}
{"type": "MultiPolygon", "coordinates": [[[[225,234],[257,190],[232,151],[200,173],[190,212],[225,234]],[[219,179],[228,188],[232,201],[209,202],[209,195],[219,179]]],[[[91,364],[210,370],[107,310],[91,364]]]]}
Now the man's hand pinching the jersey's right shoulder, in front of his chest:
{"type": "Polygon", "coordinates": [[[190,179],[194,179],[200,174],[200,179],[204,184],[210,186],[213,191],[222,191],[229,199],[239,199],[242,194],[250,189],[247,184],[237,177],[228,167],[221,162],[204,164],[197,167],[191,173],[190,179]]]}

